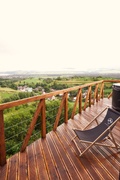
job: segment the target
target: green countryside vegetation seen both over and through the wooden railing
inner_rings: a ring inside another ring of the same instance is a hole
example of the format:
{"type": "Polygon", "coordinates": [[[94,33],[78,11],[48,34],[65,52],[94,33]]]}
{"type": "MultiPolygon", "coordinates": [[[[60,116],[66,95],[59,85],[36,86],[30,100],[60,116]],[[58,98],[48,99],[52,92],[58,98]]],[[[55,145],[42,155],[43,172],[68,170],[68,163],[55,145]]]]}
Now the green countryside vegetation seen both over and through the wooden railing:
{"type": "MultiPolygon", "coordinates": [[[[35,95],[40,95],[52,90],[65,89],[72,86],[78,86],[93,81],[104,79],[103,77],[57,77],[57,78],[27,78],[23,80],[0,79],[0,103],[6,103],[18,99],[23,99],[35,95]],[[32,87],[32,92],[23,92],[18,90],[18,86],[32,87]]],[[[111,78],[110,78],[111,79],[111,78]]],[[[104,88],[105,96],[108,96],[112,90],[112,83],[106,83],[104,88]]],[[[94,89],[93,89],[94,91],[94,89]]],[[[77,91],[70,92],[68,99],[68,117],[71,117],[73,109],[73,97],[77,91]]],[[[51,131],[55,122],[56,114],[60,106],[61,97],[55,100],[46,100],[46,124],[47,132],[51,131]]],[[[83,99],[84,103],[84,99],[83,99]]],[[[4,111],[5,137],[7,156],[18,152],[21,143],[26,135],[27,129],[36,111],[38,102],[17,106],[4,111]]],[[[60,117],[60,124],[64,122],[64,112],[60,117]]],[[[33,134],[29,143],[40,137],[41,116],[39,116],[33,134]]]]}

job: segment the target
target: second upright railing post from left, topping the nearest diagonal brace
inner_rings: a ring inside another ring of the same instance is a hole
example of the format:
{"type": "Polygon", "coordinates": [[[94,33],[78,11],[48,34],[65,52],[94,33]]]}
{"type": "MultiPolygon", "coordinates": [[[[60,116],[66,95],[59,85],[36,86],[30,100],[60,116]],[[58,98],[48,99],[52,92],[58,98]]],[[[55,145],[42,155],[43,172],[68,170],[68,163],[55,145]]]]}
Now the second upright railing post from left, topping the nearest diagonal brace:
{"type": "Polygon", "coordinates": [[[42,117],[42,127],[41,127],[41,136],[42,138],[46,137],[46,113],[45,113],[45,99],[42,99],[42,109],[41,109],[41,117],[42,117]]]}

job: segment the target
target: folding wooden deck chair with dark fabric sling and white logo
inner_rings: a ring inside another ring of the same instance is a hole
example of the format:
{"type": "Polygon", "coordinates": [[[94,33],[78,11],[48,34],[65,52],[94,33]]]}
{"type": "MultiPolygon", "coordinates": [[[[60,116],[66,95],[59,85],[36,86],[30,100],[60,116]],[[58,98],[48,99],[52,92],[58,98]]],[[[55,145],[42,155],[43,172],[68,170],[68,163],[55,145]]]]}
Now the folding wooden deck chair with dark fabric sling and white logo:
{"type": "Polygon", "coordinates": [[[120,148],[120,145],[115,141],[115,138],[112,133],[112,129],[115,124],[120,120],[120,113],[106,107],[103,109],[83,130],[73,129],[75,132],[75,137],[72,139],[75,143],[80,155],[82,156],[86,151],[88,151],[93,145],[106,146],[110,148],[116,148],[117,150],[120,148]],[[107,111],[105,115],[105,110],[107,111]],[[104,116],[103,116],[104,114],[104,116]],[[104,117],[100,124],[98,123],[97,118],[99,116],[104,117]],[[92,129],[88,129],[88,127],[96,121],[97,126],[92,129]],[[86,143],[87,147],[85,150],[81,151],[75,138],[78,138],[80,143],[86,143]],[[110,140],[112,143],[105,143],[106,140],[110,140]]]}

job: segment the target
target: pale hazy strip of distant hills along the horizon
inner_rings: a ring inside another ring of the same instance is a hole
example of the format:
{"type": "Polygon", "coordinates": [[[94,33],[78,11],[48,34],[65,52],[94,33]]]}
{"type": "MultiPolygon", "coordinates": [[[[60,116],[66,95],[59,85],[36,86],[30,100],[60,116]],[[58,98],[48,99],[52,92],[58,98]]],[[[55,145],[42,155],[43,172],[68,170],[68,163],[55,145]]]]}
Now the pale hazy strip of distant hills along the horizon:
{"type": "Polygon", "coordinates": [[[84,71],[76,70],[76,69],[64,69],[62,71],[23,71],[23,70],[16,70],[16,71],[5,71],[0,72],[0,76],[42,76],[42,75],[80,75],[80,76],[105,76],[105,77],[114,77],[120,78],[120,69],[88,69],[84,71]]]}

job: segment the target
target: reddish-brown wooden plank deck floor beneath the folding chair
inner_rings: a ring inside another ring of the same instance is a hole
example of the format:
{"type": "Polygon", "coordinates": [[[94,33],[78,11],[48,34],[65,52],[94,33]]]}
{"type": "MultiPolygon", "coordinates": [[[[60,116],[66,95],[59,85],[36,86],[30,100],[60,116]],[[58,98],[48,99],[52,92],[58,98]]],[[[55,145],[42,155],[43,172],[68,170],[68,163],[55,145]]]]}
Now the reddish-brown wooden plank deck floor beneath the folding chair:
{"type": "MultiPolygon", "coordinates": [[[[74,120],[62,124],[56,132],[50,132],[45,139],[29,145],[24,153],[17,153],[0,167],[0,179],[119,179],[120,151],[107,147],[93,146],[82,157],[71,141],[73,128],[84,128],[111,99],[103,99],[88,107],[74,120]]],[[[114,128],[114,136],[120,143],[120,122],[114,128]]],[[[84,144],[80,145],[84,148],[84,144]]]]}

